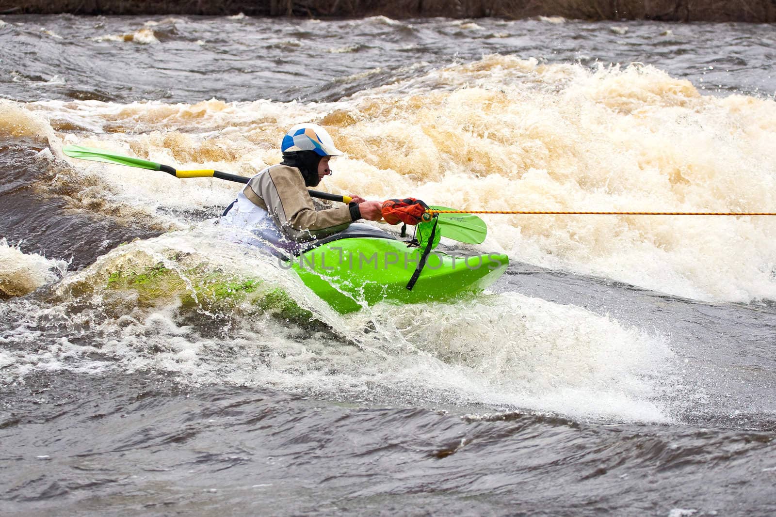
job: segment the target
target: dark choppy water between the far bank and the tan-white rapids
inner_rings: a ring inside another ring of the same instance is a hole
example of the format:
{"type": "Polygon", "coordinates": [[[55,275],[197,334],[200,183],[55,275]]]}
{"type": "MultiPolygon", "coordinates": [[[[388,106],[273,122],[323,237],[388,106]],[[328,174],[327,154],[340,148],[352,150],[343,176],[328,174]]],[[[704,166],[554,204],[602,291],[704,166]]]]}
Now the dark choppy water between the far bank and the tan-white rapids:
{"type": "Polygon", "coordinates": [[[0,95],[18,101],[335,101],[487,53],[587,66],[659,64],[698,88],[776,94],[771,70],[776,36],[769,25],[158,16],[4,20],[0,95]],[[117,48],[116,41],[104,40],[124,35],[135,42],[153,37],[161,46],[117,48]],[[357,77],[367,71],[374,73],[357,77]]]}

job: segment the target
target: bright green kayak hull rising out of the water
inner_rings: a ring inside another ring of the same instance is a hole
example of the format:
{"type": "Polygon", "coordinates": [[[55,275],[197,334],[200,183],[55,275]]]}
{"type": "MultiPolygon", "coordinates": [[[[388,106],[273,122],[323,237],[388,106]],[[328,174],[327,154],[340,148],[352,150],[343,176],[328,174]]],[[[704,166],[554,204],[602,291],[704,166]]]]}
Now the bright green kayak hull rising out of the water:
{"type": "Polygon", "coordinates": [[[290,261],[289,268],[341,313],[377,302],[444,301],[482,291],[507,270],[506,255],[454,257],[432,250],[412,289],[407,288],[421,250],[400,240],[353,237],[334,240],[290,261]]]}

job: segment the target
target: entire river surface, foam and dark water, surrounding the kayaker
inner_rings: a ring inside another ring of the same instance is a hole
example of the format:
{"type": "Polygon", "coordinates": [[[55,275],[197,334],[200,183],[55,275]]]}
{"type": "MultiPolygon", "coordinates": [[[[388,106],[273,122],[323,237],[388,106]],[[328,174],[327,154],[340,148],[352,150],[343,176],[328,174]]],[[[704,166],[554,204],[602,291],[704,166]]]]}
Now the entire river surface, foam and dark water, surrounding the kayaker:
{"type": "Polygon", "coordinates": [[[776,212],[772,26],[0,20],[0,514],[776,513],[776,218],[487,215],[489,291],[340,315],[234,184],[62,153],[317,122],[334,193],[776,212]]]}

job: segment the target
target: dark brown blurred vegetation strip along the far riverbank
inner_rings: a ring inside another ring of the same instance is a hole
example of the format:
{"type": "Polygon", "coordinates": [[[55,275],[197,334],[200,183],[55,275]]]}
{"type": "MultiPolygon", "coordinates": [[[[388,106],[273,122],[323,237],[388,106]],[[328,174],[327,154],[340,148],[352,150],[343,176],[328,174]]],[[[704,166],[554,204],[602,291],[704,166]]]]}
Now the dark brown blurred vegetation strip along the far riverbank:
{"type": "Polygon", "coordinates": [[[445,16],[521,19],[653,19],[776,22],[776,0],[0,0],[0,14],[210,15],[394,19],[445,16]]]}

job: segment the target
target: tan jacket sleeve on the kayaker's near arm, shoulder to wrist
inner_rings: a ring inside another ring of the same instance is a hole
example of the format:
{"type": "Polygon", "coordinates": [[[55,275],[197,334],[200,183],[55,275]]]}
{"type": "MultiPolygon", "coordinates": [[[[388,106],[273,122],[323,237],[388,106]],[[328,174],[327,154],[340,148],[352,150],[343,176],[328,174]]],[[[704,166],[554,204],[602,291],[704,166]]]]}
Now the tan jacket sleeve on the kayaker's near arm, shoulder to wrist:
{"type": "Polygon", "coordinates": [[[243,194],[267,210],[275,225],[290,240],[305,241],[331,235],[352,222],[348,205],[316,210],[295,167],[275,165],[251,178],[243,194]]]}

